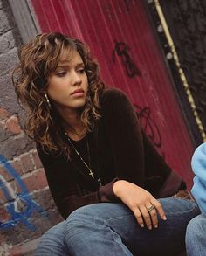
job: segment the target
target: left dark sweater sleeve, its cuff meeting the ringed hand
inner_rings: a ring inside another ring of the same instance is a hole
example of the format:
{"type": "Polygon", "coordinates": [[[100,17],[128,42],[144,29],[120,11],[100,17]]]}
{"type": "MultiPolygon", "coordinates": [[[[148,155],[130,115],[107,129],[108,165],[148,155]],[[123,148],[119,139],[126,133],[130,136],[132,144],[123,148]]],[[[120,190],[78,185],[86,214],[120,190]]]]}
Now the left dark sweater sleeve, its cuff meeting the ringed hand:
{"type": "Polygon", "coordinates": [[[81,206],[117,200],[113,194],[115,179],[101,186],[99,190],[83,194],[79,185],[73,182],[72,165],[65,161],[64,157],[46,154],[40,147],[37,147],[37,150],[52,197],[63,218],[67,218],[72,211],[81,206]]]}

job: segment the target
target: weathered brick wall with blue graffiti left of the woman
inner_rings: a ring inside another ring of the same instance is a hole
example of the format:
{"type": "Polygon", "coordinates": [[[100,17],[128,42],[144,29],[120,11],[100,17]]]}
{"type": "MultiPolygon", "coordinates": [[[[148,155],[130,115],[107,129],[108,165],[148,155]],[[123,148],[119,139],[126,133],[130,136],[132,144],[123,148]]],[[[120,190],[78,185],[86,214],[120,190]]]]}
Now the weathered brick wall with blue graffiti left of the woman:
{"type": "Polygon", "coordinates": [[[61,220],[11,83],[19,45],[10,6],[0,0],[0,255],[32,255],[41,234],[61,220]]]}

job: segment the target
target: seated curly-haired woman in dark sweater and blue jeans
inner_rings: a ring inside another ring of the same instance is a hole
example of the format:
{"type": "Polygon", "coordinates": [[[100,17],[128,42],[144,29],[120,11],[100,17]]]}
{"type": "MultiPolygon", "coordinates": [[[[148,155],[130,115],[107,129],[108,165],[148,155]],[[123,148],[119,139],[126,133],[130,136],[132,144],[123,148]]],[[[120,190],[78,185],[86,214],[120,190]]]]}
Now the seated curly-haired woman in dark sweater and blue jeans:
{"type": "Polygon", "coordinates": [[[19,59],[15,88],[29,110],[26,131],[66,219],[45,233],[36,255],[184,250],[186,225],[199,210],[171,197],[185,183],[141,132],[127,96],[104,88],[87,46],[41,34],[19,59]]]}

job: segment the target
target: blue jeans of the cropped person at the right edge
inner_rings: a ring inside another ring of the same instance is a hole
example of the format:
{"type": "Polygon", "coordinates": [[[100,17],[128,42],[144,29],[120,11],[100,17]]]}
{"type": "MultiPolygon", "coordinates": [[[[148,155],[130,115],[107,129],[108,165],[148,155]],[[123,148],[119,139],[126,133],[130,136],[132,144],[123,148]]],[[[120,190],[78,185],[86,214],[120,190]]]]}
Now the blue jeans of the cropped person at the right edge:
{"type": "Polygon", "coordinates": [[[186,232],[188,256],[206,255],[206,215],[201,214],[189,221],[186,232]]]}

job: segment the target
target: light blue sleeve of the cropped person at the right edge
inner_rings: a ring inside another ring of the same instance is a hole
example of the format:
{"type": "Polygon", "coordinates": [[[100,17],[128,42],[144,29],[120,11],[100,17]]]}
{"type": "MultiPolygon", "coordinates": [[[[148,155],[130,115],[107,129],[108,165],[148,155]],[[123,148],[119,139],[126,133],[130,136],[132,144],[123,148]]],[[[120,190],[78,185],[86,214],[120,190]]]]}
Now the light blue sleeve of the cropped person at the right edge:
{"type": "Polygon", "coordinates": [[[200,145],[192,156],[192,170],[196,176],[191,192],[200,209],[206,213],[206,143],[200,145]]]}

